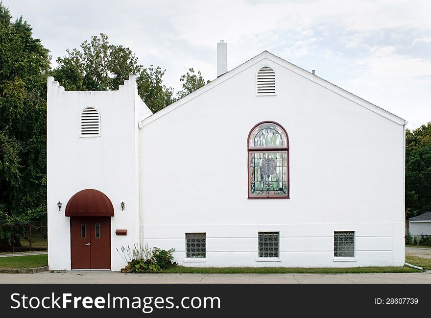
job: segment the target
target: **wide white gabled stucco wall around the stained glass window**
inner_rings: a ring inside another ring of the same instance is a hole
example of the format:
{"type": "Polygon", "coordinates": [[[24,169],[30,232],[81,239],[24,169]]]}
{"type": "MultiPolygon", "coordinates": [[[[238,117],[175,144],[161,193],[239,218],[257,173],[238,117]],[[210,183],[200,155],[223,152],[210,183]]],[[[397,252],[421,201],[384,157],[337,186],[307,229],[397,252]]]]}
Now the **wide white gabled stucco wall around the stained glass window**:
{"type": "Polygon", "coordinates": [[[403,266],[404,126],[270,57],[223,76],[141,124],[144,242],[185,266],[403,266]],[[255,95],[263,65],[277,96],[255,95]],[[287,130],[289,199],[247,199],[262,121],[287,130]],[[258,231],[280,232],[279,262],[257,262],[258,231]],[[335,262],[334,231],[355,231],[354,260],[335,262]],[[206,232],[205,263],[183,262],[187,232],[206,232]]]}

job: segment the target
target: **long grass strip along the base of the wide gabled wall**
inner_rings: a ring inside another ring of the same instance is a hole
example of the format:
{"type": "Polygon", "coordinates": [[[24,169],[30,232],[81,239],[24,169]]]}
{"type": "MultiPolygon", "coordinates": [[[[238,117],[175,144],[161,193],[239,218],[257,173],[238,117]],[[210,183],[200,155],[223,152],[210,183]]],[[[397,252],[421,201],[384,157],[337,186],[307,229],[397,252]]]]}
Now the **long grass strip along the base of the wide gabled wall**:
{"type": "Polygon", "coordinates": [[[343,274],[343,273],[412,273],[420,272],[411,267],[352,267],[352,268],[288,268],[288,267],[182,267],[162,270],[163,273],[180,274],[287,274],[287,273],[310,273],[310,274],[343,274]]]}

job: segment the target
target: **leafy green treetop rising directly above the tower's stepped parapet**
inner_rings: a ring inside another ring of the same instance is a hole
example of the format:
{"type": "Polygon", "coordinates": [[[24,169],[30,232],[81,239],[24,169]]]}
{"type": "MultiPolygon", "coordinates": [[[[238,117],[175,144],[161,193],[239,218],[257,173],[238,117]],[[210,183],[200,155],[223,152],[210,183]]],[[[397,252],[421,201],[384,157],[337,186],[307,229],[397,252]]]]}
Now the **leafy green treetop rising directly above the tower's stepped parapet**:
{"type": "Polygon", "coordinates": [[[85,40],[80,49],[66,51],[57,59],[52,76],[70,91],[116,90],[129,74],[136,75],[142,68],[131,49],[109,44],[103,33],[85,40]]]}

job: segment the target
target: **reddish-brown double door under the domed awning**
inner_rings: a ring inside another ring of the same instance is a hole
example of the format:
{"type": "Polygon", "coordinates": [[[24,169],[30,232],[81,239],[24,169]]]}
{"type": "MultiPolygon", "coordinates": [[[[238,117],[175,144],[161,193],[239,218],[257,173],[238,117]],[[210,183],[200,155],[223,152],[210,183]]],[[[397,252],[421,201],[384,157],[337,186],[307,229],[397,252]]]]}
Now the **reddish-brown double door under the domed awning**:
{"type": "Polygon", "coordinates": [[[72,269],[111,269],[111,217],[71,217],[72,269]]]}

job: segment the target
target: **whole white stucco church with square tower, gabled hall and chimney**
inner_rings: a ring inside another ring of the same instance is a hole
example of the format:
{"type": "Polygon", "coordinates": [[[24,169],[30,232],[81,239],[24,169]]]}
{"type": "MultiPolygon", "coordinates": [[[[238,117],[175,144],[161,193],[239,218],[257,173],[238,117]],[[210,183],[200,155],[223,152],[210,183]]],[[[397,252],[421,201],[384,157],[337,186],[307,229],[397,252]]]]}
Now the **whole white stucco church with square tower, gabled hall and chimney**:
{"type": "Polygon", "coordinates": [[[49,269],[403,266],[406,121],[264,51],[152,114],[48,77],[49,269]]]}

